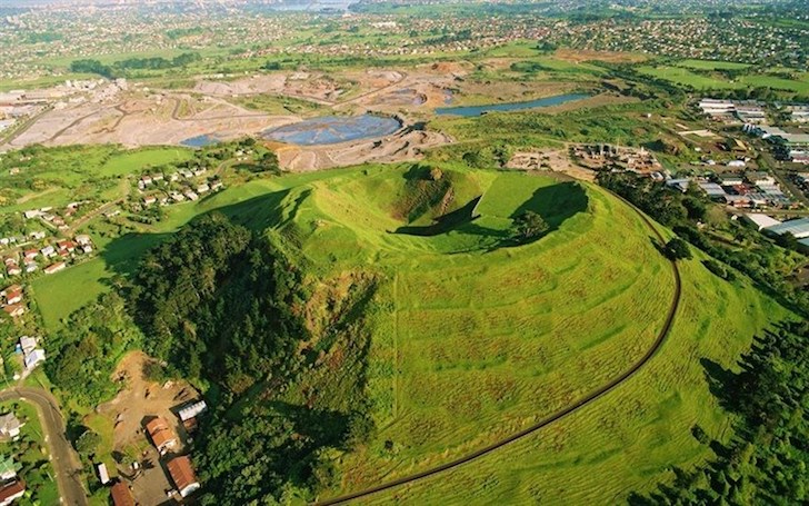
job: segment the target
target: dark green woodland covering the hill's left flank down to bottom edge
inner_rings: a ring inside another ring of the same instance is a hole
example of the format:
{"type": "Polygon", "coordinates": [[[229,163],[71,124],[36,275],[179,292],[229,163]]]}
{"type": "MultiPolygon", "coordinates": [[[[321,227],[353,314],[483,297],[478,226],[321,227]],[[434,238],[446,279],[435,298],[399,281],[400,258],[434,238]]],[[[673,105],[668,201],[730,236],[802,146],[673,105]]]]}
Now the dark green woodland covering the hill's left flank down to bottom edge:
{"type": "Polygon", "coordinates": [[[337,453],[373,429],[357,310],[369,280],[322,308],[328,325],[311,346],[302,274],[271,237],[204,216],[149,251],[130,288],[147,350],[212,384],[193,447],[204,505],[311,498],[338,479],[337,453]],[[327,366],[332,348],[338,368],[327,366]]]}

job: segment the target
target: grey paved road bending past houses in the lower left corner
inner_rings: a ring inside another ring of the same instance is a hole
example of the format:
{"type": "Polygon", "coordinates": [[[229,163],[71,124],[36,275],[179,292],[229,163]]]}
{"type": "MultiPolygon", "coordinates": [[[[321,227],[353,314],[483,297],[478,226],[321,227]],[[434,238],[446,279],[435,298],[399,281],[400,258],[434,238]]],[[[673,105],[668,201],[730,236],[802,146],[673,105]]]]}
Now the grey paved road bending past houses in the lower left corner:
{"type": "Polygon", "coordinates": [[[37,406],[48,445],[51,462],[57,474],[59,494],[63,505],[86,506],[87,494],[81,485],[81,466],[79,457],[64,437],[64,420],[57,400],[48,391],[40,388],[17,387],[0,391],[0,400],[24,399],[37,406]]]}

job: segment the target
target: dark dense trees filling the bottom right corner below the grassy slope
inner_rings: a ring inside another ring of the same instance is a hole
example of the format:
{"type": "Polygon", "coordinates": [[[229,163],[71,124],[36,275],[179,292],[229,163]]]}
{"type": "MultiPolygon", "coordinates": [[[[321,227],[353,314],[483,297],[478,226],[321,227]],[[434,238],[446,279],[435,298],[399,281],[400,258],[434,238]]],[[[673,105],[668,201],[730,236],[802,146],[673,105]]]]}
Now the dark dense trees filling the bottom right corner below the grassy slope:
{"type": "Polygon", "coordinates": [[[630,504],[749,505],[809,502],[809,324],[789,323],[756,339],[731,373],[703,360],[722,406],[737,415],[733,439],[709,441],[716,458],[695,470],[675,469],[671,485],[630,504]]]}

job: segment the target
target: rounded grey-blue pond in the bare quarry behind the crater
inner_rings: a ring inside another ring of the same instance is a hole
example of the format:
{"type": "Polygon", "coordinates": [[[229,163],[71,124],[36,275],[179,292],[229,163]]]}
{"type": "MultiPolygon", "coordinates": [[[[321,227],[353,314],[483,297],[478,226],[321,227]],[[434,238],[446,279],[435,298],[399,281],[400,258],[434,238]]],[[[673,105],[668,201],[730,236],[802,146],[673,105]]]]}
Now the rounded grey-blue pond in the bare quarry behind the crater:
{"type": "Polygon", "coordinates": [[[382,116],[323,116],[267,130],[262,137],[293,145],[317,146],[384,137],[400,128],[398,119],[382,116]]]}

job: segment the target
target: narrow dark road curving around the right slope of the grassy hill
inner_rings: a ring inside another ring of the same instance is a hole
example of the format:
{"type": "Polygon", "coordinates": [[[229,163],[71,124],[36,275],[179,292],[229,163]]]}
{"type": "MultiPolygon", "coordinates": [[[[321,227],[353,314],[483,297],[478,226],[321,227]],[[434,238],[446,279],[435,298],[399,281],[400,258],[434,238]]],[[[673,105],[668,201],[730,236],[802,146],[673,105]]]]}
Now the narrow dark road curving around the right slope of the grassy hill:
{"type": "MultiPolygon", "coordinates": [[[[609,190],[607,190],[607,191],[609,191],[609,190]]],[[[616,196],[617,198],[619,198],[620,200],[622,200],[629,207],[631,207],[638,214],[638,216],[640,216],[640,218],[643,220],[643,222],[646,222],[646,225],[651,229],[652,234],[655,234],[655,237],[657,237],[657,239],[660,240],[661,244],[666,242],[666,239],[663,238],[663,236],[660,234],[660,231],[655,227],[652,221],[643,212],[641,212],[637,207],[635,207],[632,204],[630,204],[626,199],[621,198],[620,196],[617,196],[615,194],[612,194],[612,195],[616,196]]],[[[472,452],[471,454],[465,455],[455,460],[450,460],[446,464],[433,467],[431,469],[422,470],[421,473],[416,473],[416,474],[409,475],[409,476],[402,476],[401,478],[393,479],[393,480],[387,482],[387,483],[382,483],[382,484],[376,485],[370,488],[366,488],[364,490],[358,490],[358,492],[347,494],[343,496],[319,500],[316,503],[316,505],[328,506],[328,505],[348,503],[349,500],[368,497],[370,495],[377,494],[379,492],[388,490],[390,488],[394,488],[400,485],[406,485],[406,484],[419,482],[425,478],[429,478],[431,476],[440,475],[441,473],[445,473],[447,470],[453,469],[463,464],[472,462],[477,458],[480,458],[487,454],[495,452],[496,449],[502,448],[503,446],[506,446],[510,443],[513,443],[518,439],[522,439],[526,436],[529,436],[529,435],[536,433],[537,430],[549,426],[553,421],[557,421],[557,420],[566,417],[567,415],[570,415],[571,413],[577,411],[580,408],[582,408],[589,404],[592,404],[595,400],[597,400],[598,398],[600,398],[608,391],[615,389],[616,387],[621,385],[623,381],[627,381],[628,379],[630,379],[632,376],[638,374],[638,371],[640,371],[640,369],[643,368],[643,366],[646,366],[649,363],[649,360],[651,360],[651,358],[660,350],[663,343],[666,341],[666,338],[669,335],[669,331],[671,330],[671,327],[675,323],[675,316],[677,315],[677,309],[680,306],[680,296],[682,294],[682,282],[680,279],[680,269],[677,267],[676,261],[673,261],[673,260],[669,260],[669,261],[671,264],[671,270],[672,270],[673,278],[675,278],[673,279],[675,280],[675,297],[671,300],[671,306],[669,307],[669,312],[666,316],[666,321],[663,323],[663,326],[660,329],[660,333],[658,334],[657,338],[655,339],[655,343],[652,343],[652,346],[646,351],[646,354],[643,354],[643,356],[638,361],[636,361],[632,365],[632,367],[630,367],[626,371],[621,373],[621,375],[611,379],[609,383],[596,388],[595,390],[592,390],[585,397],[580,398],[576,403],[547,416],[546,418],[533,424],[532,426],[527,427],[527,428],[520,430],[519,433],[512,434],[511,436],[508,436],[505,439],[492,443],[489,446],[486,446],[476,452],[472,452]]]]}

